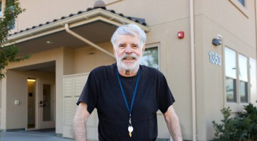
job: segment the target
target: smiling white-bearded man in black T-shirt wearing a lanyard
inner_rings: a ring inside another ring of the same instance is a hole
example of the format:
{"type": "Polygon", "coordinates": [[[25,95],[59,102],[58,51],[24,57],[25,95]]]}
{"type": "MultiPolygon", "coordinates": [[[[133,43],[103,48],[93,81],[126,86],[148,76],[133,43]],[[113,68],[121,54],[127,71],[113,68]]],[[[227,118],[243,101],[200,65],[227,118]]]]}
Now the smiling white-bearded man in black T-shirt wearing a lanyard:
{"type": "Polygon", "coordinates": [[[76,140],[86,140],[86,122],[97,108],[99,140],[155,140],[158,109],[173,140],[182,140],[175,99],[158,70],[139,65],[146,34],[136,25],[119,27],[112,36],[117,63],[90,72],[74,117],[76,140]]]}

